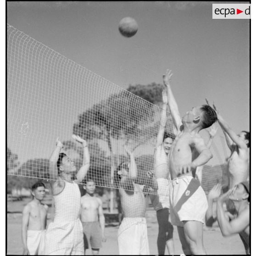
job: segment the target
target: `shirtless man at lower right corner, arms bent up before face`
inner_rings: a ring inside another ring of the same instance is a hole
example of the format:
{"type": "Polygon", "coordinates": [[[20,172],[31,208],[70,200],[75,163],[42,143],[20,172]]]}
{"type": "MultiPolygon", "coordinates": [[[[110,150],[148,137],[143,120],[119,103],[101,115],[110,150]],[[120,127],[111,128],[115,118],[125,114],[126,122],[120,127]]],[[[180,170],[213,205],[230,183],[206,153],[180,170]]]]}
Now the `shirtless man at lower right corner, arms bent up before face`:
{"type": "Polygon", "coordinates": [[[236,184],[233,189],[220,196],[217,200],[217,221],[223,236],[239,234],[246,254],[250,254],[250,185],[247,181],[236,184]],[[236,209],[231,220],[223,209],[223,203],[230,199],[236,209]]]}

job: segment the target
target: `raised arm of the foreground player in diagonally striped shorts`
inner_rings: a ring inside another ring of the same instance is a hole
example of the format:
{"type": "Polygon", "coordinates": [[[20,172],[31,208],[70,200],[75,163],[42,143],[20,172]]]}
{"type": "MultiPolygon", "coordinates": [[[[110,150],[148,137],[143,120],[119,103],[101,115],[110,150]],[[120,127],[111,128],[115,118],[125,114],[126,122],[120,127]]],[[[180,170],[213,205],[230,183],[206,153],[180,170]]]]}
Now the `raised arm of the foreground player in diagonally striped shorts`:
{"type": "Polygon", "coordinates": [[[173,75],[172,71],[167,69],[166,73],[163,75],[163,83],[167,89],[167,99],[168,99],[168,104],[169,104],[171,114],[173,117],[173,122],[174,122],[174,125],[175,125],[177,131],[179,132],[180,131],[179,128],[182,125],[182,122],[181,122],[181,117],[180,117],[180,114],[178,111],[178,105],[176,103],[176,100],[173,96],[173,92],[171,89],[170,82],[171,82],[172,75],[173,75]]]}

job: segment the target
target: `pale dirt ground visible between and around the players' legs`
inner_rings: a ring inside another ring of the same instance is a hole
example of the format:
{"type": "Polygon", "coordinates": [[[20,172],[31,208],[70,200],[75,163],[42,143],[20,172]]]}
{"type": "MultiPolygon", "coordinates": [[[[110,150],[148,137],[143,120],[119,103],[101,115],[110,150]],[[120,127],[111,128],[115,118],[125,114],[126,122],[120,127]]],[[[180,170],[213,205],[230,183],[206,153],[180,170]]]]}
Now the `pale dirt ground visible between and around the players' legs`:
{"type": "MultiPolygon", "coordinates": [[[[21,221],[22,208],[28,200],[17,202],[7,202],[7,254],[19,255],[22,254],[22,239],[21,239],[21,221]]],[[[48,224],[51,221],[51,214],[48,216],[48,224]]],[[[156,211],[152,207],[148,207],[146,212],[148,238],[150,245],[150,254],[157,255],[156,239],[158,234],[158,224],[156,220],[156,211]]],[[[117,247],[117,230],[118,223],[106,224],[106,243],[100,249],[100,255],[118,255],[117,247]]],[[[181,244],[178,238],[177,228],[174,228],[173,233],[175,254],[183,253],[181,244]]],[[[204,245],[207,254],[211,255],[241,255],[245,254],[244,246],[239,238],[239,235],[231,237],[223,237],[217,223],[214,223],[212,228],[204,227],[204,245]]],[[[166,250],[167,255],[167,250],[166,250]]],[[[86,251],[87,255],[92,255],[91,250],[86,251]]]]}

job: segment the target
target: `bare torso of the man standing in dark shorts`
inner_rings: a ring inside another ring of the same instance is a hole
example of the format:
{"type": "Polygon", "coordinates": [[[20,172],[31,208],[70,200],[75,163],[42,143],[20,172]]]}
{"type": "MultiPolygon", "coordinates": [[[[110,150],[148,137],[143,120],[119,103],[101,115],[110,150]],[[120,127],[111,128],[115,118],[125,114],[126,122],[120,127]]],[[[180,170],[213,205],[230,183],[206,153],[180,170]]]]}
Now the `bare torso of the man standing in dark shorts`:
{"type": "Polygon", "coordinates": [[[88,194],[81,198],[81,214],[80,219],[82,222],[95,222],[99,221],[99,207],[100,199],[96,196],[88,194]]]}

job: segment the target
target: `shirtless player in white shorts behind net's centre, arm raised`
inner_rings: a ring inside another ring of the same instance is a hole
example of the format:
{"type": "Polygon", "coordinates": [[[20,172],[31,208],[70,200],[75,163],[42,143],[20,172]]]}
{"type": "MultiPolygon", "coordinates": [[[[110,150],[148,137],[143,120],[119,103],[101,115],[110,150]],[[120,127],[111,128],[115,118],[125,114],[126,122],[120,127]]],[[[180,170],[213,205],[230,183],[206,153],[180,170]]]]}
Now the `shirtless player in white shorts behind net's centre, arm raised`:
{"type": "Polygon", "coordinates": [[[119,189],[123,211],[122,223],[118,229],[120,255],[149,255],[146,202],[139,184],[135,184],[137,167],[132,151],[125,148],[130,163],[122,162],[115,172],[114,181],[119,189]]]}

